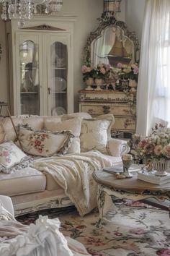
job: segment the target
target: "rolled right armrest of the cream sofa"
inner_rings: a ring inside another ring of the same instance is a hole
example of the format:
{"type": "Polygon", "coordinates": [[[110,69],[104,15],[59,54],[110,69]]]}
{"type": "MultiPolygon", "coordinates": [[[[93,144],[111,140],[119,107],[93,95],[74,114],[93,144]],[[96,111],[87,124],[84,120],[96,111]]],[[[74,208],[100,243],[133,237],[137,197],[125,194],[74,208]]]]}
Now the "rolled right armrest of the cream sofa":
{"type": "Polygon", "coordinates": [[[130,151],[126,140],[111,138],[108,140],[107,146],[109,154],[112,156],[121,156],[122,154],[126,154],[130,151]]]}

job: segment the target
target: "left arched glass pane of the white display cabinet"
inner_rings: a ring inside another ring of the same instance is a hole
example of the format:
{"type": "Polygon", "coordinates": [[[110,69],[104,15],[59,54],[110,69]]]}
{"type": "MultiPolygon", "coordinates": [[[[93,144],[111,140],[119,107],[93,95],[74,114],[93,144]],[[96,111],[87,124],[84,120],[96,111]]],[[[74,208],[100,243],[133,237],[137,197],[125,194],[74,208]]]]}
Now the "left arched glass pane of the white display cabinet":
{"type": "Polygon", "coordinates": [[[32,40],[19,44],[20,113],[40,114],[38,45],[32,40]]]}

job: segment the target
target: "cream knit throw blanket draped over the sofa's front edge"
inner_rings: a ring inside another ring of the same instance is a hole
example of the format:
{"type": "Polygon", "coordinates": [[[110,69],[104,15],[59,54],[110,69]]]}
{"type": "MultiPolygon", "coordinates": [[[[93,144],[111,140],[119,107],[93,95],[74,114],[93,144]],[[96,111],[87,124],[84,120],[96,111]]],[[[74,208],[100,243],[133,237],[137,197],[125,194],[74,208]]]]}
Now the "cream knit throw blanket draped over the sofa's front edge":
{"type": "Polygon", "coordinates": [[[97,207],[97,182],[92,174],[106,166],[112,162],[99,151],[40,158],[32,163],[33,168],[53,176],[81,216],[97,207]]]}

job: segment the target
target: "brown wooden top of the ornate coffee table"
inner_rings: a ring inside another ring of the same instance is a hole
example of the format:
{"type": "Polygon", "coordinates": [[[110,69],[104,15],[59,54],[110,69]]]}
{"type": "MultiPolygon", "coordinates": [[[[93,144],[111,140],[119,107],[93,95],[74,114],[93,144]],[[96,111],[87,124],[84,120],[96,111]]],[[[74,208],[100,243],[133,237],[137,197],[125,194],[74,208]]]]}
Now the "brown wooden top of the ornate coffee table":
{"type": "Polygon", "coordinates": [[[169,192],[170,182],[162,185],[151,184],[149,182],[143,182],[137,179],[138,174],[133,174],[130,179],[117,179],[114,174],[109,174],[104,171],[94,171],[94,180],[104,185],[105,187],[111,187],[113,189],[122,191],[133,192],[169,192]]]}

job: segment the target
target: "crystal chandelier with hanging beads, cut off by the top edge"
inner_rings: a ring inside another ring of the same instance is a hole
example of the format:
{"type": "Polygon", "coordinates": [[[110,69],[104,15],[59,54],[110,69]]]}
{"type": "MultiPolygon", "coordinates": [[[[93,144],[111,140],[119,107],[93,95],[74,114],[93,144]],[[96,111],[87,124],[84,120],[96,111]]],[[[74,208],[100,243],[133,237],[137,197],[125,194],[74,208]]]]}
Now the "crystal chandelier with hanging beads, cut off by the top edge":
{"type": "Polygon", "coordinates": [[[2,20],[19,19],[20,25],[37,14],[37,7],[43,7],[45,14],[55,14],[61,10],[63,0],[0,0],[2,20]]]}

